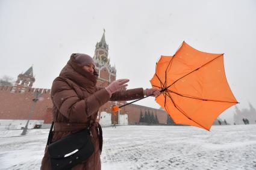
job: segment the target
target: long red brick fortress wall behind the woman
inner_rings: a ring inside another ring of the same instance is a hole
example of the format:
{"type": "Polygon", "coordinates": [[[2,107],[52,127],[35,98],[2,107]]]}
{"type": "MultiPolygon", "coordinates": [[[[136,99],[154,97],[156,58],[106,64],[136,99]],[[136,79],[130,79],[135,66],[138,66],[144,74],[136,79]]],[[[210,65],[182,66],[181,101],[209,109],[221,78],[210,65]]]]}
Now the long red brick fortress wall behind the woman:
{"type": "MultiPolygon", "coordinates": [[[[52,101],[50,97],[50,90],[28,88],[27,93],[11,93],[11,88],[12,87],[0,87],[0,119],[27,120],[29,118],[31,108],[34,105],[33,92],[39,90],[40,92],[43,92],[41,96],[42,100],[36,103],[31,120],[44,120],[44,123],[47,124],[52,122],[52,101]]],[[[105,105],[99,108],[99,113],[102,111],[111,113],[112,105],[115,105],[115,102],[105,103],[105,105]]],[[[157,114],[159,123],[166,123],[166,112],[140,105],[127,105],[120,109],[120,114],[127,114],[129,124],[136,124],[139,123],[140,111],[142,111],[143,115],[145,114],[145,111],[149,111],[150,114],[153,112],[154,115],[157,114]]]]}

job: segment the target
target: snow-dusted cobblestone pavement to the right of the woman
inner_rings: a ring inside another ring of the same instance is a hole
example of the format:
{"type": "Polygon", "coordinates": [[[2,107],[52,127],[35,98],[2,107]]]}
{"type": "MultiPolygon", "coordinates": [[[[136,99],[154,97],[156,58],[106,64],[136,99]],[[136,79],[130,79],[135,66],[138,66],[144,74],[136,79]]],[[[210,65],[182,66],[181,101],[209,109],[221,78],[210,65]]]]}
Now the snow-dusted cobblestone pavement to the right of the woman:
{"type": "Polygon", "coordinates": [[[102,169],[256,169],[256,125],[104,129],[102,169]],[[105,168],[104,168],[105,166],[105,168]]]}

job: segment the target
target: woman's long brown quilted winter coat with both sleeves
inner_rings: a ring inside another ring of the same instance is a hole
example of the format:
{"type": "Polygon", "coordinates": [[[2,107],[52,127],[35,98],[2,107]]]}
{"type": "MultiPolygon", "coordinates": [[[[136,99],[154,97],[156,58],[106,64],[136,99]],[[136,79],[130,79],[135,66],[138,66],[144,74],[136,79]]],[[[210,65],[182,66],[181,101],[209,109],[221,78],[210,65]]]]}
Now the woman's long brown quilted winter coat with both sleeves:
{"type": "MultiPolygon", "coordinates": [[[[60,76],[52,83],[52,114],[55,124],[51,142],[84,129],[92,120],[95,152],[89,159],[72,168],[75,170],[101,169],[98,123],[96,123],[99,107],[109,100],[124,101],[143,97],[143,88],[137,88],[117,91],[110,98],[105,88],[96,87],[96,79],[96,75],[84,71],[73,61],[73,57],[70,57],[67,65],[61,70],[60,76]]],[[[47,147],[41,169],[51,169],[47,147]]]]}

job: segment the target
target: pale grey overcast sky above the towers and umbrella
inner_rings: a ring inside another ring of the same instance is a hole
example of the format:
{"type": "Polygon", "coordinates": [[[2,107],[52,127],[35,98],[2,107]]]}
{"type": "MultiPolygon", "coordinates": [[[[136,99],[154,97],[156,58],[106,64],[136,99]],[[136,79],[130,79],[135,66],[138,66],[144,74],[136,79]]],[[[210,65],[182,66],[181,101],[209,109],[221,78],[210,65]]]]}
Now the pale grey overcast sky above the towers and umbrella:
{"type": "MultiPolygon", "coordinates": [[[[256,1],[0,0],[0,77],[33,65],[33,87],[51,88],[71,53],[94,54],[103,29],[117,79],[150,88],[155,62],[183,41],[225,53],[229,86],[240,109],[256,108],[256,1]]],[[[159,108],[154,98],[138,105],[159,108]]],[[[231,121],[234,106],[221,115],[231,121]]]]}

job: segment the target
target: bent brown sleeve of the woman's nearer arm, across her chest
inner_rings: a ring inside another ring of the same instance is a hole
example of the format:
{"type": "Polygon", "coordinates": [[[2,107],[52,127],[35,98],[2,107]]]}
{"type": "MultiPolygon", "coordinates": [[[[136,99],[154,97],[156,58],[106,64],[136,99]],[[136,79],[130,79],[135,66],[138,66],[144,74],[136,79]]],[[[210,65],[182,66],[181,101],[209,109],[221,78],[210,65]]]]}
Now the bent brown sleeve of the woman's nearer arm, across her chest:
{"type": "Polygon", "coordinates": [[[70,121],[75,122],[95,114],[99,107],[110,100],[105,88],[96,91],[86,99],[80,99],[76,92],[61,80],[57,80],[52,84],[51,97],[58,111],[70,121]]]}

